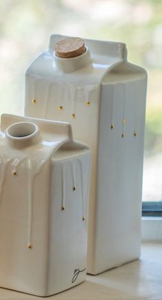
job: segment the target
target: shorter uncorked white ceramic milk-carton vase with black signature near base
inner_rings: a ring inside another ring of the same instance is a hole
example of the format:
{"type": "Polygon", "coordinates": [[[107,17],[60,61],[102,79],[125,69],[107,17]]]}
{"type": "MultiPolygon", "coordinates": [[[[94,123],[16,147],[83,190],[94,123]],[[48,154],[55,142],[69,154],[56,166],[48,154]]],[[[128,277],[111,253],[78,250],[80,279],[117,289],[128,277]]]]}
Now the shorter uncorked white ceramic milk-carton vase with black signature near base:
{"type": "Polygon", "coordinates": [[[84,281],[89,169],[68,123],[1,116],[1,287],[49,296],[84,281]]]}

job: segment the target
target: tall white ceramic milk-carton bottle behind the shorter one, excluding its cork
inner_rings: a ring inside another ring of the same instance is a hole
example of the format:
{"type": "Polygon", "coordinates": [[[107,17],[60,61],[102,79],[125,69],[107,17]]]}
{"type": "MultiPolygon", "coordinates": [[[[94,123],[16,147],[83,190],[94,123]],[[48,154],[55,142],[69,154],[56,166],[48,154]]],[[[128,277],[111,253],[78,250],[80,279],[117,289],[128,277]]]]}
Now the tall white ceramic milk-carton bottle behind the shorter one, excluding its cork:
{"type": "Polygon", "coordinates": [[[28,67],[25,115],[71,123],[92,152],[88,272],[137,259],[146,71],[127,61],[126,45],[85,39],[86,51],[60,58],[49,49],[28,67]]]}

